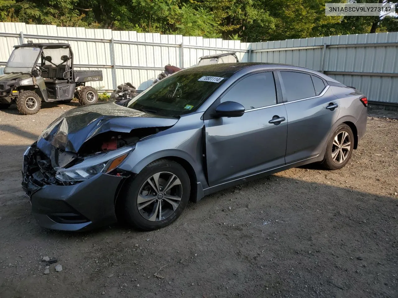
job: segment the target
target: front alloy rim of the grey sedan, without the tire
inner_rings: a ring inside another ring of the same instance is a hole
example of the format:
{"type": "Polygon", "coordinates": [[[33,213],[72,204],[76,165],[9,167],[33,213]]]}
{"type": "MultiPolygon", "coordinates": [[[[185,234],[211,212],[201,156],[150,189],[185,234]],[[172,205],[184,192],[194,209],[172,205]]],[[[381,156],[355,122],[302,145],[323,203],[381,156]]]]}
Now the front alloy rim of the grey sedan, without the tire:
{"type": "Polygon", "coordinates": [[[158,172],[142,184],[137,196],[140,215],[148,221],[162,221],[177,210],[182,199],[182,184],[170,172],[158,172]]]}

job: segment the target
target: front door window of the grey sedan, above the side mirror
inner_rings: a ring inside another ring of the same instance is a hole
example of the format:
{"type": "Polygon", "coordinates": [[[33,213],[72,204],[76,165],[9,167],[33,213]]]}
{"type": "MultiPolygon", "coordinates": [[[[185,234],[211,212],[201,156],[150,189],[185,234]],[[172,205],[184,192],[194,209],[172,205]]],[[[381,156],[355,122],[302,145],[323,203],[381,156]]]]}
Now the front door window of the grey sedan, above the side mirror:
{"type": "Polygon", "coordinates": [[[272,72],[261,72],[245,77],[221,98],[221,103],[235,101],[245,110],[276,104],[275,80],[272,72]]]}

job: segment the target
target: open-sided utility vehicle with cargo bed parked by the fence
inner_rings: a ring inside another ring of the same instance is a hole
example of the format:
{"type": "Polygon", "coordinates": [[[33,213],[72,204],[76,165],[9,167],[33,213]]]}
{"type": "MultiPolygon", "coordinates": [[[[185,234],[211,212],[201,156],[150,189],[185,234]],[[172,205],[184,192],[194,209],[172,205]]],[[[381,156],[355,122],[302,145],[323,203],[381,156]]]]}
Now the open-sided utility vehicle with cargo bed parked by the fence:
{"type": "Polygon", "coordinates": [[[75,70],[73,52],[68,43],[33,43],[14,46],[0,75],[0,109],[17,104],[24,115],[35,114],[41,102],[80,104],[98,101],[98,93],[88,81],[102,81],[100,70],[75,70]]]}

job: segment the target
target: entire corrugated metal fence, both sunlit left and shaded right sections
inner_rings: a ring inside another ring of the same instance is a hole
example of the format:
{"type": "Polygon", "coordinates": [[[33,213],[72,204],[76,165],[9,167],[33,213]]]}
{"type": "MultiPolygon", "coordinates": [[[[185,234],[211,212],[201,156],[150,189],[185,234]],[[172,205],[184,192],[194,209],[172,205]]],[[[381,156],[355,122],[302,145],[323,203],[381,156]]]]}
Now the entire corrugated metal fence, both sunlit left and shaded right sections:
{"type": "Polygon", "coordinates": [[[167,64],[186,68],[197,64],[201,56],[233,51],[242,62],[293,64],[324,72],[357,87],[370,101],[398,105],[398,32],[241,43],[136,31],[0,23],[0,73],[12,46],[27,40],[70,43],[77,69],[103,71],[103,81],[91,83],[103,91],[111,91],[123,82],[142,90],[167,64]]]}

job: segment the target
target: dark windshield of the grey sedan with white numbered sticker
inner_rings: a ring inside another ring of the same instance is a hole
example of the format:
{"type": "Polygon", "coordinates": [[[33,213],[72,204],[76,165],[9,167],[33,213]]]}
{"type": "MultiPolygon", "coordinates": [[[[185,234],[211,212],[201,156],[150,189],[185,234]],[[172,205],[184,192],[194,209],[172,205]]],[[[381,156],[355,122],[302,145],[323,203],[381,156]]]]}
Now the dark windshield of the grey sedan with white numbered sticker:
{"type": "Polygon", "coordinates": [[[160,116],[193,112],[232,74],[182,71],[166,77],[140,93],[127,105],[160,116]]]}

